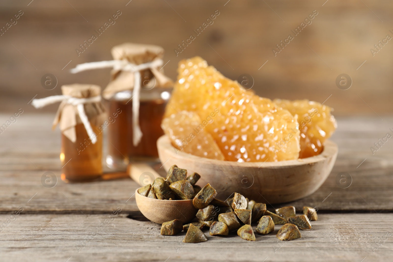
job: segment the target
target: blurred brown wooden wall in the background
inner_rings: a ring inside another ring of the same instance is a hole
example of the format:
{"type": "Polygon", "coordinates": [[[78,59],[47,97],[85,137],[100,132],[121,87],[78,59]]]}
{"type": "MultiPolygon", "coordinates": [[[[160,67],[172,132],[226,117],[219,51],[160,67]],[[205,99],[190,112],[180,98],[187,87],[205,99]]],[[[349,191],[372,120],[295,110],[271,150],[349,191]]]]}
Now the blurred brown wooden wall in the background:
{"type": "Polygon", "coordinates": [[[62,84],[105,87],[109,70],[76,75],[69,70],[83,62],[110,60],[111,45],[136,42],[165,48],[164,63],[169,62],[164,69],[172,79],[179,60],[199,55],[231,79],[252,75],[253,90],[264,97],[323,102],[331,95],[325,104],[334,108],[335,115],[391,114],[393,41],[374,57],[370,52],[386,35],[393,37],[391,1],[227,1],[2,0],[0,27],[19,10],[23,15],[0,36],[0,111],[33,112],[28,102],[35,95],[60,94],[62,84]],[[75,49],[117,10],[121,15],[116,23],[78,57],[75,49]],[[216,10],[220,15],[214,23],[176,56],[174,48],[216,10]],[[272,48],[293,35],[291,29],[313,10],[318,15],[312,24],[275,57],[272,48]],[[50,91],[40,84],[46,73],[58,79],[50,91]],[[336,86],[341,73],[353,79],[348,90],[336,86]]]}

